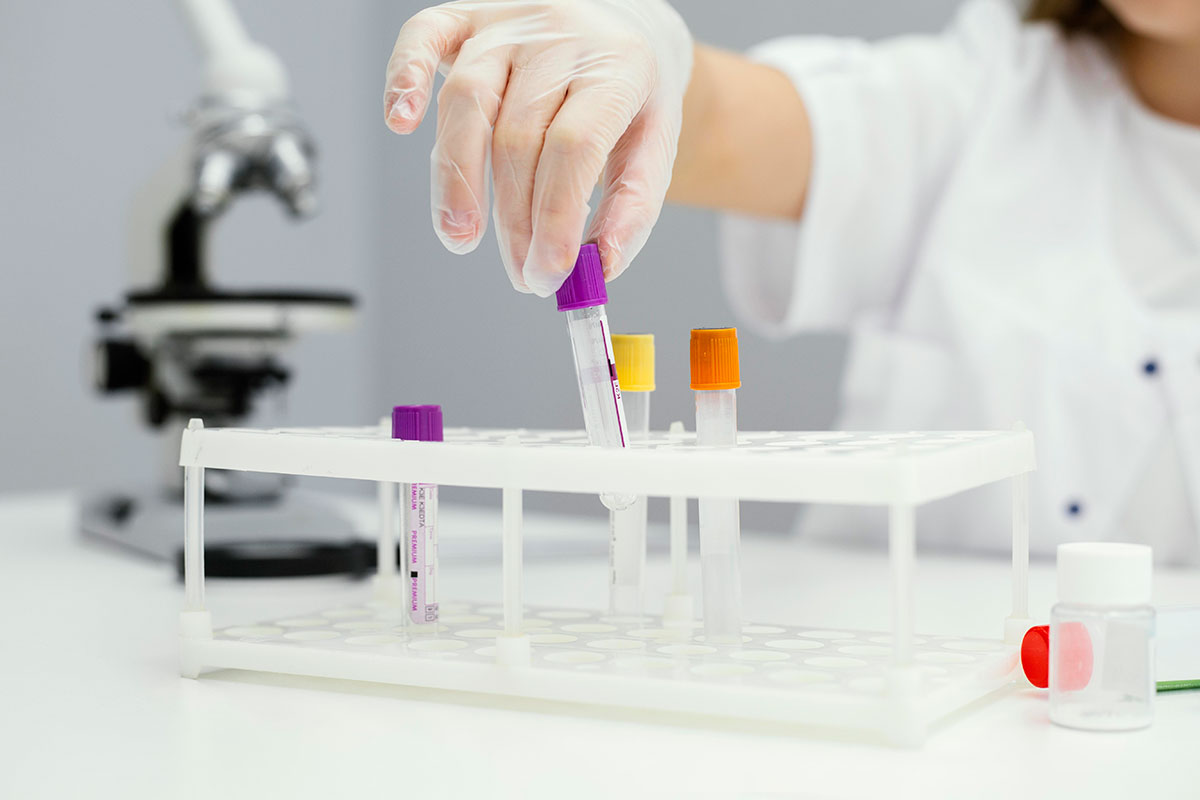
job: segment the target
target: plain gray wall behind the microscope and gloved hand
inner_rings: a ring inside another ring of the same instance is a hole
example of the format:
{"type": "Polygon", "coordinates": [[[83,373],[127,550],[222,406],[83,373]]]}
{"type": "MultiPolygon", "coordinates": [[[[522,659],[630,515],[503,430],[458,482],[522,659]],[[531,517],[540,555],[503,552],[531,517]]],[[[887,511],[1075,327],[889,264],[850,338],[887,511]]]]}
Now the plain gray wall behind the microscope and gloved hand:
{"type": "MultiPolygon", "coordinates": [[[[936,30],[959,4],[677,6],[698,38],[739,49],[782,32],[936,30]]],[[[344,288],[362,301],[353,332],[295,345],[288,423],[366,423],[394,403],[440,402],[454,423],[577,426],[553,303],[509,288],[491,233],[470,255],[442,248],[428,211],[432,127],[401,139],[383,126],[383,67],[400,25],[422,5],[238,2],[252,35],[290,71],[320,145],[323,211],[296,225],[272,200],[244,201],[217,229],[214,272],[232,285],[344,288]]],[[[84,355],[94,309],[125,289],[131,198],[185,136],[180,116],[199,85],[194,48],[169,0],[5,0],[0,76],[0,492],[146,483],[154,437],[131,401],[92,395],[84,355]]],[[[611,287],[614,329],[658,335],[656,426],[691,417],[688,330],[734,321],[715,253],[712,215],[668,209],[611,287]]],[[[841,353],[836,337],[743,335],[743,427],[828,426],[841,353]]],[[[749,524],[779,525],[791,510],[746,513],[749,524]]]]}

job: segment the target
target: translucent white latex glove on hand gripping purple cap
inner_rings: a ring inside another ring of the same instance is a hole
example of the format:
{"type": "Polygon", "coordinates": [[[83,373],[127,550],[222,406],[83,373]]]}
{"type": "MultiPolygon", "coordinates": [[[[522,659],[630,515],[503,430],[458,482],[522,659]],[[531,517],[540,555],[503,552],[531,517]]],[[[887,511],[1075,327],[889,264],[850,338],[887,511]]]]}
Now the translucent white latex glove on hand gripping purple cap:
{"type": "Polygon", "coordinates": [[[546,296],[580,245],[605,275],[646,243],[671,182],[691,36],[662,0],[462,0],[421,11],[388,62],[388,127],[410,133],[438,92],[433,227],[455,253],[487,228],[512,285],[546,296]],[[588,199],[604,179],[584,235],[588,199]]]}

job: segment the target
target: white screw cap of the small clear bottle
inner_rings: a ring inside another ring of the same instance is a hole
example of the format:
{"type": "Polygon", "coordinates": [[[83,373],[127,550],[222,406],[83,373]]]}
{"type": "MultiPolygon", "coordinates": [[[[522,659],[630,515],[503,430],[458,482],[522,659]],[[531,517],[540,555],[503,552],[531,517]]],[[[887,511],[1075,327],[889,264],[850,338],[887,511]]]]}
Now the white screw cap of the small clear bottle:
{"type": "Polygon", "coordinates": [[[1058,601],[1084,606],[1150,603],[1153,551],[1146,545],[1058,546],[1058,601]]]}

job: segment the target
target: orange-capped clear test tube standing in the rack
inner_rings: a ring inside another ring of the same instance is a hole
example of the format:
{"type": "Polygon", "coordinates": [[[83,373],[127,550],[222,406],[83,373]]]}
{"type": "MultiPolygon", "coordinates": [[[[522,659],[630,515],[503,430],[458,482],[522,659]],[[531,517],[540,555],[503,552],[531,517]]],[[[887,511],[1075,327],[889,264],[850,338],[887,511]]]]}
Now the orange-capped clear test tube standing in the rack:
{"type": "MultiPolygon", "coordinates": [[[[691,332],[691,387],[696,390],[696,444],[733,447],[738,441],[738,331],[691,332]]],[[[700,564],[704,640],[742,642],[740,523],[736,498],[700,499],[700,564]]]]}

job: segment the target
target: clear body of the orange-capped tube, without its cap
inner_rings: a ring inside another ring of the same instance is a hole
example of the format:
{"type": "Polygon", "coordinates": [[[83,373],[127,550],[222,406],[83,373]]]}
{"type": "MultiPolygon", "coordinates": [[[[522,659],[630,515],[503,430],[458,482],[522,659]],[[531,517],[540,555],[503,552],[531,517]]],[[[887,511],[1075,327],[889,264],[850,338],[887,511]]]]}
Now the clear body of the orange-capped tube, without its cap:
{"type": "MultiPolygon", "coordinates": [[[[737,390],[697,391],[696,444],[732,447],[737,440],[737,390]]],[[[742,642],[740,540],[738,501],[701,498],[700,563],[707,642],[742,642]]]]}

